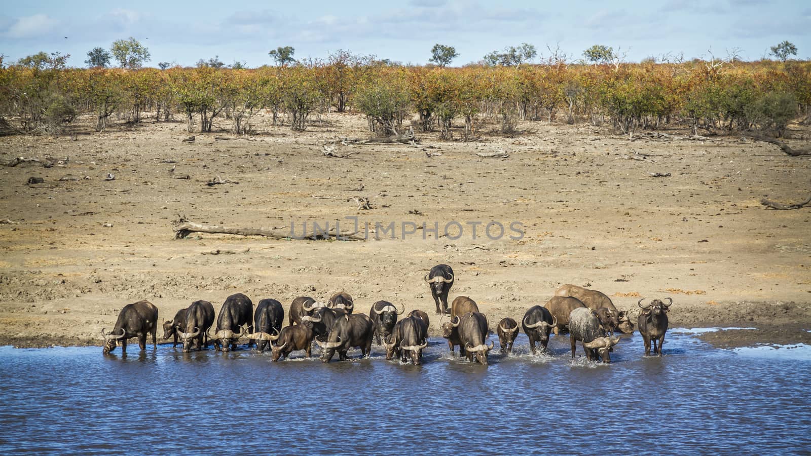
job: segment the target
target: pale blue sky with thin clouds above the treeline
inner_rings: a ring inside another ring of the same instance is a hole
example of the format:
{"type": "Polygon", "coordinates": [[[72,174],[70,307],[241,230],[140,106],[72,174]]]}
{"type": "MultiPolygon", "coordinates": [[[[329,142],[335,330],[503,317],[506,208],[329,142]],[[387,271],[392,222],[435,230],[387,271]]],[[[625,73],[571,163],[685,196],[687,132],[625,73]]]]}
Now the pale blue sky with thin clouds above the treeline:
{"type": "MultiPolygon", "coordinates": [[[[809,0],[337,0],[307,2],[4,1],[0,54],[14,62],[40,51],[87,52],[134,37],[152,59],[193,66],[200,58],[272,64],[270,49],[290,45],[295,58],[327,58],[338,49],[424,65],[436,43],[459,53],[452,66],[477,62],[509,45],[530,43],[540,57],[558,47],[570,60],[591,45],[611,46],[629,62],[649,56],[744,60],[791,41],[811,59],[809,0]],[[116,5],[118,3],[118,5],[116,5]],[[124,5],[124,6],[121,6],[124,5]]],[[[539,59],[536,58],[536,62],[539,59]]]]}

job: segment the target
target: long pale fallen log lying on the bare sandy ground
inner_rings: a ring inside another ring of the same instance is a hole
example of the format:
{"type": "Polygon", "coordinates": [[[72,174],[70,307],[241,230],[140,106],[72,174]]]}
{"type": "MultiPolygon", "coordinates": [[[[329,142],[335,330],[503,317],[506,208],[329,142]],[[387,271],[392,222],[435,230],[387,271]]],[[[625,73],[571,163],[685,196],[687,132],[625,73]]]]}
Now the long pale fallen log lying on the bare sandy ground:
{"type": "Polygon", "coordinates": [[[239,236],[264,236],[271,239],[335,239],[340,236],[341,240],[363,241],[366,240],[364,234],[359,231],[351,231],[337,234],[335,228],[329,230],[306,230],[297,233],[291,230],[290,226],[273,226],[272,228],[242,228],[234,226],[204,225],[188,221],[185,217],[180,217],[173,222],[174,239],[186,238],[191,233],[208,234],[236,234],[239,236]]]}

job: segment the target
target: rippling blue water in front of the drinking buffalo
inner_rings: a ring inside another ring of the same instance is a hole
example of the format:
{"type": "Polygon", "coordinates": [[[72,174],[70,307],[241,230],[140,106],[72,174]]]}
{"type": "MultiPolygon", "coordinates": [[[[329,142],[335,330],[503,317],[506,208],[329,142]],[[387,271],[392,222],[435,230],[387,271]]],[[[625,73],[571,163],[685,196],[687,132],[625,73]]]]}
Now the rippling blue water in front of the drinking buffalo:
{"type": "MultiPolygon", "coordinates": [[[[811,359],[721,351],[668,333],[662,358],[638,334],[609,365],[569,338],[552,355],[452,359],[432,339],[422,366],[293,359],[171,345],[122,357],[101,347],[0,347],[0,454],[808,454],[811,359]]],[[[317,350],[314,351],[314,355],[317,350]]],[[[356,358],[359,351],[351,351],[356,358]]]]}

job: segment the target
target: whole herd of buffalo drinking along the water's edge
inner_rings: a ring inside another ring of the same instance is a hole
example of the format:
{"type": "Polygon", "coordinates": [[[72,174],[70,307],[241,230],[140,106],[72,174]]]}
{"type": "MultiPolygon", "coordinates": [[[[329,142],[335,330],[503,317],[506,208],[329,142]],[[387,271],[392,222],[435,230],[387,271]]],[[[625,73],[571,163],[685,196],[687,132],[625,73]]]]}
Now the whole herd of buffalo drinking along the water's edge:
{"type": "MultiPolygon", "coordinates": [[[[448,308],[448,290],[453,286],[453,269],[448,265],[436,265],[424,277],[431,288],[440,315],[440,330],[448,340],[448,350],[470,362],[487,364],[487,354],[495,344],[487,342],[490,328],[487,316],[479,312],[478,305],[468,296],[457,296],[448,308]]],[[[637,329],[645,343],[645,355],[662,355],[662,344],[667,332],[667,311],[673,300],[653,299],[640,308],[637,329]]],[[[247,338],[247,346],[255,344],[255,350],[272,352],[272,360],[285,358],[293,351],[305,351],[311,356],[312,345],[321,349],[321,360],[328,362],[337,353],[341,360],[347,359],[347,351],[357,348],[363,357],[371,353],[372,342],[383,345],[386,359],[397,358],[402,362],[420,364],[423,350],[428,346],[428,314],[414,310],[401,318],[405,307],[399,308],[388,301],[372,304],[369,315],[354,313],[354,299],[345,291],[319,302],[307,296],[299,296],[290,303],[288,325],[282,328],[285,310],[275,299],[262,299],[254,308],[250,298],[242,293],[230,295],[220,308],[217,321],[214,307],[208,301],[195,301],[188,308],[180,309],[173,320],[163,323],[164,339],[173,338],[172,346],[182,343],[182,351],[192,348],[200,351],[212,343],[216,351],[237,349],[240,338],[247,338]],[[251,318],[252,317],[252,318],[251,318]]],[[[104,353],[113,351],[121,343],[127,353],[127,338],[138,338],[141,350],[146,350],[147,335],[152,334],[152,347],[157,347],[157,308],[148,301],[127,304],[118,315],[111,331],[102,329],[105,338],[104,353]]],[[[543,306],[532,306],[521,321],[504,318],[499,321],[496,335],[501,353],[508,355],[521,329],[526,333],[533,355],[538,350],[547,352],[551,333],[569,333],[572,358],[576,344],[581,342],[586,358],[590,361],[611,362],[610,353],[620,342],[613,337],[615,331],[633,333],[629,312],[620,311],[607,295],[581,286],[565,284],[543,306]],[[539,344],[540,347],[536,346],[539,344]]]]}

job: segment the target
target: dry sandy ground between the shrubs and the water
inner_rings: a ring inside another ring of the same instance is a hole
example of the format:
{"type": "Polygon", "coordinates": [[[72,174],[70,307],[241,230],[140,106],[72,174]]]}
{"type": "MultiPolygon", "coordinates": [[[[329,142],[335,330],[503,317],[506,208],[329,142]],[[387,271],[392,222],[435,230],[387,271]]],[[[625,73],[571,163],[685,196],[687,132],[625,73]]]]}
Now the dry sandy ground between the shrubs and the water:
{"type": "MultiPolygon", "coordinates": [[[[101,329],[127,303],[148,299],[168,319],[195,299],[218,308],[238,292],[286,308],[298,295],[345,290],[363,312],[379,299],[421,308],[436,333],[423,275],[440,263],[456,272],[450,298],[470,295],[492,326],[574,283],[620,309],[671,296],[672,327],[757,328],[704,336],[719,346],[811,343],[811,208],[758,202],[804,199],[809,157],[737,137],[631,141],[608,127],[534,122],[513,137],[485,124],[473,143],[429,133],[415,145],[338,144],[337,153],[354,153],[341,159],[320,144],[368,137],[363,117],[330,114],[303,133],[268,120],[260,115],[257,136],[195,133],[192,143],[182,142],[185,123],[151,118],[101,134],[80,119],[72,138],[0,138],[0,158],[41,160],[0,166],[0,219],[11,222],[0,225],[0,344],[101,345],[101,329]],[[476,155],[498,151],[509,157],[476,155]],[[47,157],[63,163],[45,168],[47,157]],[[82,179],[59,180],[67,174],[82,179]],[[238,183],[208,187],[215,176],[238,183]],[[372,209],[358,210],[353,196],[372,209]],[[397,239],[175,240],[177,214],[238,227],[293,222],[298,233],[303,223],[358,217],[372,229],[394,222],[397,239]],[[427,230],[401,239],[402,222],[439,222],[443,234],[453,221],[459,239],[427,230]],[[506,227],[502,239],[483,235],[491,221],[506,227]],[[469,222],[482,222],[477,239],[469,222]],[[522,239],[509,239],[511,222],[522,223],[522,239]],[[217,249],[237,253],[207,254],[217,249]]],[[[811,131],[794,126],[792,135],[801,145],[811,131]]]]}

